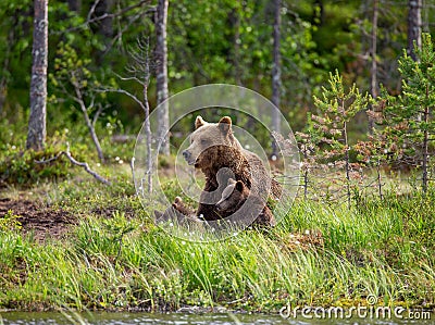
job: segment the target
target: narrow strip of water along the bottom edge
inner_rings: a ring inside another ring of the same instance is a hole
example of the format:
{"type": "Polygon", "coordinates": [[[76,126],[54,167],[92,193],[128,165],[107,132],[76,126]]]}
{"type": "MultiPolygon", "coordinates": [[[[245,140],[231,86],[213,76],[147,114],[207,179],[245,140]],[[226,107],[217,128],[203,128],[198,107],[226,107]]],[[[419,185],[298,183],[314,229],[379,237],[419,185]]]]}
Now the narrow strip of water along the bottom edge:
{"type": "MultiPolygon", "coordinates": [[[[426,315],[427,317],[427,315],[426,315]]],[[[374,318],[358,318],[349,320],[308,320],[301,316],[285,320],[279,315],[262,315],[262,314],[231,314],[231,313],[32,313],[32,312],[0,312],[1,324],[30,324],[30,325],[57,325],[57,324],[170,324],[170,325],[229,325],[229,324],[290,324],[290,325],[314,325],[314,324],[383,324],[383,325],[402,325],[402,324],[435,324],[434,314],[430,314],[431,320],[405,321],[405,320],[374,320],[374,318]]]]}

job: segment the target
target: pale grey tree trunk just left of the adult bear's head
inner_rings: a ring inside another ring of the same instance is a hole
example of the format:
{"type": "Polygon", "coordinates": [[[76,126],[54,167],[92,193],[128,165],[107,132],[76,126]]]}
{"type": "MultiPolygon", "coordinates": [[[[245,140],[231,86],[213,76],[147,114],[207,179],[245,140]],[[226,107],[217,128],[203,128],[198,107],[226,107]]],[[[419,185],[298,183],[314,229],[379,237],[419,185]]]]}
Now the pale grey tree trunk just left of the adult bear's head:
{"type": "Polygon", "coordinates": [[[166,99],[167,91],[167,46],[166,46],[166,21],[167,21],[169,0],[159,0],[157,7],[157,45],[156,59],[157,66],[157,104],[162,105],[158,111],[159,120],[159,142],[160,153],[170,154],[169,128],[170,128],[170,112],[166,99]]]}

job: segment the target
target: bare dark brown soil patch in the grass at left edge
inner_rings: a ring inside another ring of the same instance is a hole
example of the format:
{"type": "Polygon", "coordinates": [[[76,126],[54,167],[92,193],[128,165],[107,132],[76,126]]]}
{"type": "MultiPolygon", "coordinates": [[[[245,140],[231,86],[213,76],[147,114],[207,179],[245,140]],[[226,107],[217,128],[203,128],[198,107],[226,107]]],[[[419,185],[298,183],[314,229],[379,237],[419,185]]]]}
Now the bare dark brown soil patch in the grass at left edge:
{"type": "Polygon", "coordinates": [[[4,217],[8,211],[18,215],[24,234],[32,234],[38,241],[47,238],[60,238],[75,218],[66,211],[52,209],[28,200],[12,200],[0,198],[0,217],[4,217]]]}

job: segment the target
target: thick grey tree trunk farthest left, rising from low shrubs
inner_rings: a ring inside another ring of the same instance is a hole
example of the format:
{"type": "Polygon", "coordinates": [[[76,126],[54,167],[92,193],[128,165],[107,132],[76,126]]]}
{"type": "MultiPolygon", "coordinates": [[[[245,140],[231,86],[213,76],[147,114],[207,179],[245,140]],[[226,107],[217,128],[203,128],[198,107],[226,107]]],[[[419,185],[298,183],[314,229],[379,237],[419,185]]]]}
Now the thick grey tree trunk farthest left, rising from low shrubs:
{"type": "Polygon", "coordinates": [[[35,0],[34,7],[30,117],[26,148],[41,150],[47,134],[48,0],[35,0]]]}

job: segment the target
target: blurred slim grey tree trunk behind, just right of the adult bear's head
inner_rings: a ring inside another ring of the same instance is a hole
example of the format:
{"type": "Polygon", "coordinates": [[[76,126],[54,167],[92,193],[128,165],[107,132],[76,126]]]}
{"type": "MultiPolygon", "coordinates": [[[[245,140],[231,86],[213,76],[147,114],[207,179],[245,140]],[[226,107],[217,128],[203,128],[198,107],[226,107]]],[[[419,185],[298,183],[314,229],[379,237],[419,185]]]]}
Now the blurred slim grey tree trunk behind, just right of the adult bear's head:
{"type": "MultiPolygon", "coordinates": [[[[281,88],[281,0],[274,0],[274,23],[273,23],[273,70],[272,70],[272,103],[279,109],[279,88],[281,88]]],[[[272,112],[272,128],[277,134],[281,133],[279,110],[272,112]]],[[[276,141],[272,141],[272,157],[278,155],[276,141]]]]}

